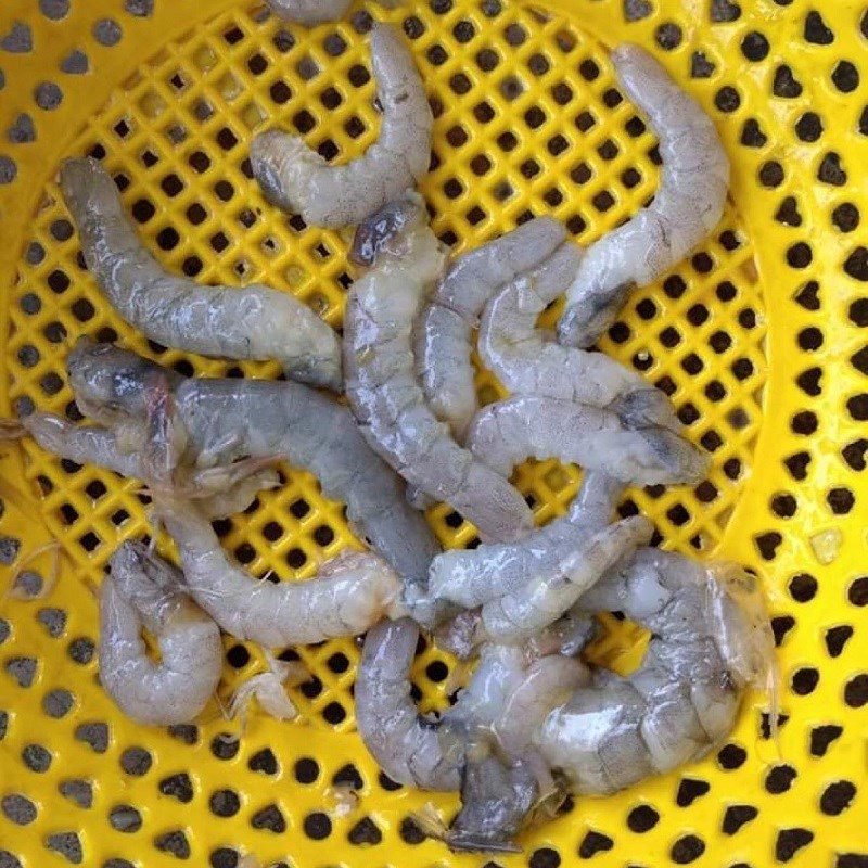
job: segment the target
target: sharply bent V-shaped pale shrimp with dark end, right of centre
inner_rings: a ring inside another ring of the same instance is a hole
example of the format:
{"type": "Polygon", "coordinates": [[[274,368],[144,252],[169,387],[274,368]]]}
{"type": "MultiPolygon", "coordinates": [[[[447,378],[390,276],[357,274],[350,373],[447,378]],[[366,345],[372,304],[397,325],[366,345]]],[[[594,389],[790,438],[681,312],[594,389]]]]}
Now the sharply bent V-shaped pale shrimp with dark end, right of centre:
{"type": "Polygon", "coordinates": [[[666,396],[637,373],[602,353],[561,346],[537,328],[540,314],[566,289],[580,259],[579,248],[566,242],[488,302],[480,324],[483,362],[514,394],[604,407],[627,427],[680,431],[666,396]]]}

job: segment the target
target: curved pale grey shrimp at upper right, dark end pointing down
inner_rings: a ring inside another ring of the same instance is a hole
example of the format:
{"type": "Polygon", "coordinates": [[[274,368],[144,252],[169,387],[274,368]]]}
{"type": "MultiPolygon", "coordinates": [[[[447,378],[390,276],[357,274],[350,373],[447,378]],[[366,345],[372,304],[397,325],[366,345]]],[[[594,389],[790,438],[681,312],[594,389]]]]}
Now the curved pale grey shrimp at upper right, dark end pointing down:
{"type": "Polygon", "coordinates": [[[729,161],[711,118],[638,46],[612,52],[618,80],[660,137],[663,170],[654,201],[588,250],[566,293],[562,344],[587,347],[614,319],[634,285],[682,259],[720,219],[729,161]]]}

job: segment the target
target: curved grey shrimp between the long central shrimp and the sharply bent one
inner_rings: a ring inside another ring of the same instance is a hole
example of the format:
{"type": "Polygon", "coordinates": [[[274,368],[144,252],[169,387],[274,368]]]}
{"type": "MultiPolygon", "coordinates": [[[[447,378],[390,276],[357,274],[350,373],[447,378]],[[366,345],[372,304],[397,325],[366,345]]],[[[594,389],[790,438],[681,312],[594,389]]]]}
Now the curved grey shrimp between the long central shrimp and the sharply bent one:
{"type": "Polygon", "coordinates": [[[485,303],[545,261],[565,238],[551,217],[523,224],[457,259],[423,309],[414,333],[417,376],[429,407],[459,442],[478,408],[470,348],[485,303]]]}

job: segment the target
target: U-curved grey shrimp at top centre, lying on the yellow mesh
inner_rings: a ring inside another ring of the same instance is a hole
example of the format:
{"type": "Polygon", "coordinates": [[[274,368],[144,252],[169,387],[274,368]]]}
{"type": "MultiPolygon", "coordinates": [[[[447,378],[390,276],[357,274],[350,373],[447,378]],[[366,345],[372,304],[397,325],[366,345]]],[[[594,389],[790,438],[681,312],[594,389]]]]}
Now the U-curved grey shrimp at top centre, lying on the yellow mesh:
{"type": "Polygon", "coordinates": [[[263,192],[307,224],[359,224],[427,171],[431,107],[412,55],[390,24],[373,25],[371,67],[383,117],[380,138],[363,155],[330,166],[304,140],[280,130],[263,132],[251,144],[253,173],[263,192]]]}

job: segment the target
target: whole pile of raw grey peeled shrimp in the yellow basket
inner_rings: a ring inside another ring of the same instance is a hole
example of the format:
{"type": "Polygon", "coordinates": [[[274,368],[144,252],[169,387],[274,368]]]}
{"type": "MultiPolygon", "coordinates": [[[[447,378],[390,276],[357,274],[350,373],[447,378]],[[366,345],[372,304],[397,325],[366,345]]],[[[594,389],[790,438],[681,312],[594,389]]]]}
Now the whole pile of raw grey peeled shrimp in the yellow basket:
{"type": "MultiPolygon", "coordinates": [[[[347,2],[269,5],[312,25],[347,2]]],[[[604,795],[703,756],[733,726],[745,689],[774,687],[758,579],[651,548],[646,518],[617,515],[626,486],[695,483],[707,458],[665,395],[589,349],[631,286],[717,224],[729,164],[698,103],[643,50],[621,46],[617,76],[660,138],[653,202],[588,250],[541,216],[449,261],[413,189],[431,154],[424,88],[395,28],[375,24],[370,51],[382,125],[363,155],[330,165],[277,129],[251,146],[277,207],[356,226],[349,256],[362,275],[343,336],[268,286],[202,286],[168,272],[100,163],[72,159],[61,190],[108,304],[161,344],[273,358],[288,379],[190,379],[85,337],[67,371],[90,423],[35,412],[3,432],[141,480],[154,538],[162,527],[177,545],[176,567],[153,540],[125,541],[100,588],[101,684],[125,714],[149,725],[200,714],[220,679],[221,631],[269,650],[367,631],[355,701],[372,755],[399,783],[460,791],[450,825],[420,818],[430,834],[455,850],[514,850],[571,792],[604,795]],[[537,320],[563,293],[554,340],[537,320]],[[483,362],[510,393],[486,407],[473,384],[476,331],[483,362]],[[531,457],[584,470],[569,513],[544,527],[510,482],[531,457]],[[260,580],[231,561],[210,521],[280,485],[278,461],[346,503],[365,550],[301,583],[260,580]],[[441,550],[419,511],[434,501],[475,525],[475,549],[441,550]],[[595,615],[609,611],[652,633],[628,677],[582,656],[595,615]],[[420,629],[477,660],[436,719],[411,698],[420,629]]],[[[283,682],[298,673],[269,659],[237,701],[255,695],[292,718],[283,682]]]]}

